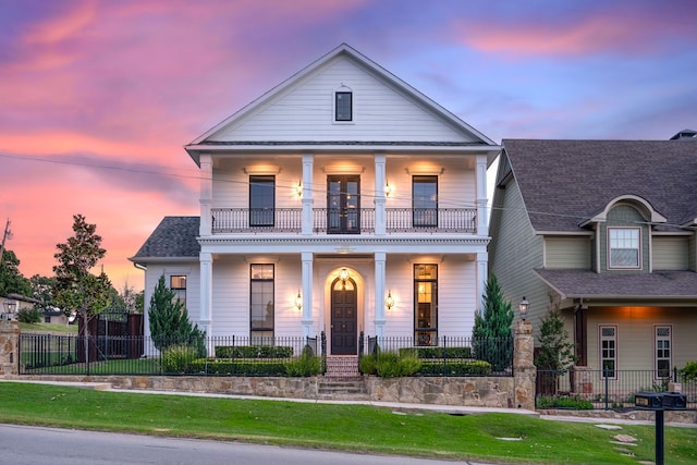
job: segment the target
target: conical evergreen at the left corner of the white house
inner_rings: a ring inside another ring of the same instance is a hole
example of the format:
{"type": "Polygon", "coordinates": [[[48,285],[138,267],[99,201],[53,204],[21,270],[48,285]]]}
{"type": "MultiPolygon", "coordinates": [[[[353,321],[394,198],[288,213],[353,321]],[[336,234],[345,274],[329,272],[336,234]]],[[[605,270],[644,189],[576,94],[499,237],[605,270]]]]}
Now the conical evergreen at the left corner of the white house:
{"type": "Polygon", "coordinates": [[[199,356],[204,356],[206,333],[198,329],[198,325],[192,325],[186,306],[175,296],[174,291],[164,283],[164,276],[161,276],[148,308],[152,343],[160,351],[171,345],[191,345],[198,350],[199,356]]]}

